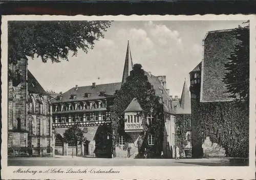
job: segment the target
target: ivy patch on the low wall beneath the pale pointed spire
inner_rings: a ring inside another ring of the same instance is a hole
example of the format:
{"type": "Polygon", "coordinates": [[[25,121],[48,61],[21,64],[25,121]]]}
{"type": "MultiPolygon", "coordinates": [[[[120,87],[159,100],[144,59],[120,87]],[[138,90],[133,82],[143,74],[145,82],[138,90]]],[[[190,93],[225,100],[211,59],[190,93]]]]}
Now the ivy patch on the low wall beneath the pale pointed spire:
{"type": "Polygon", "coordinates": [[[191,115],[176,115],[175,119],[175,144],[183,152],[187,145],[186,132],[191,131],[191,115]]]}

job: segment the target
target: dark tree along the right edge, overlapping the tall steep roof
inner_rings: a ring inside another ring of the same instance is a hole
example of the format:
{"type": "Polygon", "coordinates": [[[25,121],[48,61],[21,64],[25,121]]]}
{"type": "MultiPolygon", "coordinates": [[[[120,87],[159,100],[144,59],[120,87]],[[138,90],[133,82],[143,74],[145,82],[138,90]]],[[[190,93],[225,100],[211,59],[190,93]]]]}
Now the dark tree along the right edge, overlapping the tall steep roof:
{"type": "MultiPolygon", "coordinates": [[[[246,24],[249,21],[245,22],[246,24]]],[[[226,93],[235,98],[238,107],[249,116],[249,26],[239,26],[233,32],[237,40],[225,64],[226,73],[223,82],[227,86],[226,93]]]]}

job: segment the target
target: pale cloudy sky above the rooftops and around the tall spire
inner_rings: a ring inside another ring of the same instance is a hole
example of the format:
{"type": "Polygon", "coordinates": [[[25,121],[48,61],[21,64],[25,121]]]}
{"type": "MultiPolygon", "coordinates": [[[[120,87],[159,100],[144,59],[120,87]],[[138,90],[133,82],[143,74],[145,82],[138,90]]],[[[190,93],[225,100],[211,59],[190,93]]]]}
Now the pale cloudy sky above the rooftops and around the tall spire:
{"type": "Polygon", "coordinates": [[[170,95],[181,96],[184,80],[203,59],[202,41],[208,31],[232,29],[242,21],[114,21],[88,54],[78,51],[69,61],[43,63],[29,58],[28,69],[45,90],[66,92],[122,81],[129,40],[133,63],[155,76],[166,76],[170,95]]]}

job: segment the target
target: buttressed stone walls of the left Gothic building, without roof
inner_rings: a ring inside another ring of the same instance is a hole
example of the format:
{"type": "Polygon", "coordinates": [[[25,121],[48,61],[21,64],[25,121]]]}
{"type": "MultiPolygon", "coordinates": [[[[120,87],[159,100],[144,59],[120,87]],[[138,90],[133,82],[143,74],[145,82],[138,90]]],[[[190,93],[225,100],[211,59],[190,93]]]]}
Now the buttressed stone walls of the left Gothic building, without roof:
{"type": "MultiPolygon", "coordinates": [[[[47,95],[31,94],[28,91],[27,60],[17,61],[16,70],[20,83],[8,86],[8,154],[49,154],[51,152],[51,113],[47,95]],[[31,112],[31,99],[35,98],[35,111],[31,112]],[[40,97],[45,101],[45,112],[40,112],[40,97]],[[20,123],[18,123],[20,120],[20,123]],[[18,153],[14,152],[18,151],[18,153]]],[[[12,70],[12,64],[9,64],[12,70]]]]}

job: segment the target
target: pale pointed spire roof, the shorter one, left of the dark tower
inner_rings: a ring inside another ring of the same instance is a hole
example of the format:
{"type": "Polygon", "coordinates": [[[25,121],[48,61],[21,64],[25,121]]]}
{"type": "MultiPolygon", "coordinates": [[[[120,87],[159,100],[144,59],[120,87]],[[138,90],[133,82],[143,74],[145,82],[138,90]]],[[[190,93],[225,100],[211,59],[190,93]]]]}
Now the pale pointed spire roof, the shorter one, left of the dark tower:
{"type": "Polygon", "coordinates": [[[184,114],[191,114],[191,102],[189,96],[189,89],[187,87],[186,78],[183,85],[183,90],[180,98],[180,107],[184,114]]]}

